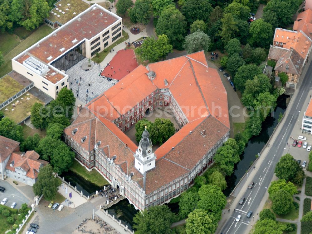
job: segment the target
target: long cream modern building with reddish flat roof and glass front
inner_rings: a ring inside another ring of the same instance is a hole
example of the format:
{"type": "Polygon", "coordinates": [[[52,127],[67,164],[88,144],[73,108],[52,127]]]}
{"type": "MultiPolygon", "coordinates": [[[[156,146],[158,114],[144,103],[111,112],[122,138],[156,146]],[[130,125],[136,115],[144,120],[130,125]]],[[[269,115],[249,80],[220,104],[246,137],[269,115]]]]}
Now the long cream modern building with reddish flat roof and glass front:
{"type": "Polygon", "coordinates": [[[94,4],[12,59],[12,68],[56,98],[68,86],[66,71],[122,36],[122,18],[94,4]]]}

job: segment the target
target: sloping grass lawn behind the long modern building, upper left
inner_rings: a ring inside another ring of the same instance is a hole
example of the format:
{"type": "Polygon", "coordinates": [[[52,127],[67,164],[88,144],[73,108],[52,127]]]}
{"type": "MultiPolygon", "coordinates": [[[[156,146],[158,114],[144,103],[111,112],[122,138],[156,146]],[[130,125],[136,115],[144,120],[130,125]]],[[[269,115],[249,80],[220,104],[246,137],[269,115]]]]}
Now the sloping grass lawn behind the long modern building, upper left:
{"type": "MultiPolygon", "coordinates": [[[[9,34],[7,32],[1,33],[0,34],[0,41],[1,41],[0,50],[2,50],[2,47],[7,48],[8,46],[10,47],[10,49],[7,50],[6,54],[3,53],[4,64],[1,66],[1,69],[0,69],[0,77],[12,71],[11,59],[13,59],[17,54],[20,54],[25,49],[29,48],[31,45],[33,45],[37,41],[41,40],[46,35],[50,34],[52,31],[53,29],[43,24],[36,30],[32,31],[32,34],[22,41],[20,41],[19,39],[16,39],[17,36],[14,34],[8,36],[9,34]],[[2,40],[2,38],[6,40],[2,40]],[[17,43],[15,42],[15,40],[17,40],[17,43]]],[[[20,33],[22,34],[22,32],[20,33]]]]}

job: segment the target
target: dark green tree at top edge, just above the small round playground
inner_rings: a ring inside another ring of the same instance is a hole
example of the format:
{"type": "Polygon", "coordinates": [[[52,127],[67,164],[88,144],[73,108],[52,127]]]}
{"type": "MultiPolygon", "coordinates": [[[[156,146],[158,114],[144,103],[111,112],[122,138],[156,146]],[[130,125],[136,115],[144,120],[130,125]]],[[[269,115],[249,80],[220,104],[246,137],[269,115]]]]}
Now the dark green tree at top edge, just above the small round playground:
{"type": "Polygon", "coordinates": [[[139,22],[148,24],[152,14],[151,0],[136,0],[134,7],[129,10],[130,20],[134,23],[139,22]]]}

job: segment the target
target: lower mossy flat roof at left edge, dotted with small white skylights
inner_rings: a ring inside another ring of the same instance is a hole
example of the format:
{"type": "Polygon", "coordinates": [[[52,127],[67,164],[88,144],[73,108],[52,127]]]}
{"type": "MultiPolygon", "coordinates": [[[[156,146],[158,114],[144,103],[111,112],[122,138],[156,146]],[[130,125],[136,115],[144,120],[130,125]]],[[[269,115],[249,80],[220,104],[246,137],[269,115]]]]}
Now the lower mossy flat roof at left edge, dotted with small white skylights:
{"type": "Polygon", "coordinates": [[[3,107],[2,111],[6,117],[9,117],[15,123],[19,123],[22,120],[26,119],[27,116],[30,115],[32,105],[35,102],[39,102],[39,103],[44,104],[37,97],[26,92],[22,96],[20,96],[19,98],[15,99],[13,101],[13,103],[15,103],[14,107],[12,106],[12,103],[10,103],[9,105],[3,107]],[[29,94],[29,95],[27,95],[27,94],[29,94]]]}

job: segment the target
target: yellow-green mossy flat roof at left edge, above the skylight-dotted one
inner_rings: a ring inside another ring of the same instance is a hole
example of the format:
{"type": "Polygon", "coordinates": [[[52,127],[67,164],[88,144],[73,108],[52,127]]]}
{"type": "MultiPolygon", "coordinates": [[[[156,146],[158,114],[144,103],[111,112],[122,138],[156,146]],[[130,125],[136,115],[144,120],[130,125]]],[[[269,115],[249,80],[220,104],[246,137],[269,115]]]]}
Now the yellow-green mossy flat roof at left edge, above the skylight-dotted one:
{"type": "Polygon", "coordinates": [[[12,77],[6,75],[0,79],[0,103],[25,88],[12,77]]]}

